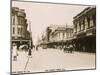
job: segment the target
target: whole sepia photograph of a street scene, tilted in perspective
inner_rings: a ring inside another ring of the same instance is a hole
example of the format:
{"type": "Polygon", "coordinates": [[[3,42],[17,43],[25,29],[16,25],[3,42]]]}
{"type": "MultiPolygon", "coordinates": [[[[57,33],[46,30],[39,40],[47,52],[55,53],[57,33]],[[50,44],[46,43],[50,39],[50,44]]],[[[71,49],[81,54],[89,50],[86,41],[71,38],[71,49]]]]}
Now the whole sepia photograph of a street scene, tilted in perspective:
{"type": "Polygon", "coordinates": [[[12,74],[96,69],[96,6],[12,1],[12,74]]]}

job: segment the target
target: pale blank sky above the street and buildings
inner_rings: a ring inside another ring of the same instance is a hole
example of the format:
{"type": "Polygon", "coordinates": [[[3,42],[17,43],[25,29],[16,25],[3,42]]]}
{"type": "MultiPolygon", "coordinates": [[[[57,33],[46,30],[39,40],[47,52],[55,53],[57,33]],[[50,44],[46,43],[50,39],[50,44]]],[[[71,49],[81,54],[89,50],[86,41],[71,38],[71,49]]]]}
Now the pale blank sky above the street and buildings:
{"type": "Polygon", "coordinates": [[[73,25],[73,17],[88,6],[12,1],[12,7],[25,9],[27,22],[31,22],[33,43],[36,44],[48,26],[73,25]]]}

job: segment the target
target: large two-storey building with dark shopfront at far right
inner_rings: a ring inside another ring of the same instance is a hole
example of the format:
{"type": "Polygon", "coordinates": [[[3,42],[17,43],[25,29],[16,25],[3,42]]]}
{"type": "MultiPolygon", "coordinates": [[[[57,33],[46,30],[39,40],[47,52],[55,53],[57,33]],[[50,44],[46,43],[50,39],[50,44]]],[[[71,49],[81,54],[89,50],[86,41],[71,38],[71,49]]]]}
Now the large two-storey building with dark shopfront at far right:
{"type": "Polygon", "coordinates": [[[96,52],[96,7],[84,9],[73,19],[76,50],[96,52]]]}

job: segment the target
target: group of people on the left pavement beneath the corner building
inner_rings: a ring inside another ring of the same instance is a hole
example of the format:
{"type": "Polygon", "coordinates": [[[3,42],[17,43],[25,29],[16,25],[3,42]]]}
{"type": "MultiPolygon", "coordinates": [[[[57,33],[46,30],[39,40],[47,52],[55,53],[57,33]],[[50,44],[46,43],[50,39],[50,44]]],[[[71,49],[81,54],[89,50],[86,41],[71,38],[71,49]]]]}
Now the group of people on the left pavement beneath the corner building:
{"type": "Polygon", "coordinates": [[[18,46],[16,43],[12,44],[12,57],[13,57],[13,61],[17,60],[17,56],[18,56],[18,51],[20,50],[24,50],[25,52],[28,52],[28,56],[31,57],[32,55],[32,47],[28,46],[28,45],[20,45],[18,46]]]}

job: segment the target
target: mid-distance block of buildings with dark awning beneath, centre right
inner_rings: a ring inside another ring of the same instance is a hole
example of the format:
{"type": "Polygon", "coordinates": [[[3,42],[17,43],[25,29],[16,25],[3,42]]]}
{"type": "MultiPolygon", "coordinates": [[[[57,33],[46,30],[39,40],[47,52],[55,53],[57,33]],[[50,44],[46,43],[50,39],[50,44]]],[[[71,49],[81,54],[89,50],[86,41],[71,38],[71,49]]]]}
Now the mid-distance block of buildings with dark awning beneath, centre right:
{"type": "Polygon", "coordinates": [[[46,29],[46,44],[50,48],[63,48],[71,44],[73,38],[73,28],[68,26],[52,25],[46,29]]]}

